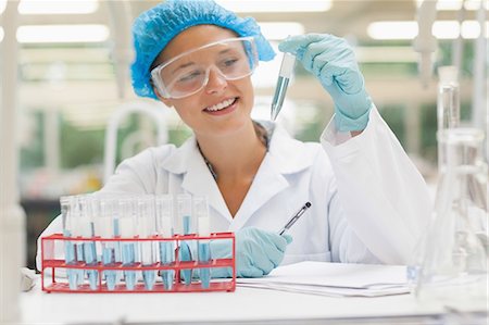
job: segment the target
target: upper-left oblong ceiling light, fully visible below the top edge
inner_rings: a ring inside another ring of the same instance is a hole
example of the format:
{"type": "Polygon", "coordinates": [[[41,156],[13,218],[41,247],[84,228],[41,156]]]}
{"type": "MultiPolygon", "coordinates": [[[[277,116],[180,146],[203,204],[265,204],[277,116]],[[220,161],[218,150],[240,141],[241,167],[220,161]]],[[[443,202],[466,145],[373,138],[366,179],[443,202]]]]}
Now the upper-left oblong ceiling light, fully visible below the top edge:
{"type": "Polygon", "coordinates": [[[108,40],[105,25],[29,25],[17,29],[18,42],[101,42],[108,40]]]}

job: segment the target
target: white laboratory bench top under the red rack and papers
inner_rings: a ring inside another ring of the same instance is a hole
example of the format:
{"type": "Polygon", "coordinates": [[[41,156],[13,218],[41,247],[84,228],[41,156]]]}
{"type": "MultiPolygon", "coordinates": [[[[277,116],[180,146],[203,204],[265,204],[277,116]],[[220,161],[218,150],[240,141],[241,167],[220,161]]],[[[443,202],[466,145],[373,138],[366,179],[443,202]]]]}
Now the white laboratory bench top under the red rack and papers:
{"type": "Polygon", "coordinates": [[[235,292],[21,293],[22,324],[471,324],[487,310],[421,305],[411,295],[339,298],[237,287],[235,292]]]}

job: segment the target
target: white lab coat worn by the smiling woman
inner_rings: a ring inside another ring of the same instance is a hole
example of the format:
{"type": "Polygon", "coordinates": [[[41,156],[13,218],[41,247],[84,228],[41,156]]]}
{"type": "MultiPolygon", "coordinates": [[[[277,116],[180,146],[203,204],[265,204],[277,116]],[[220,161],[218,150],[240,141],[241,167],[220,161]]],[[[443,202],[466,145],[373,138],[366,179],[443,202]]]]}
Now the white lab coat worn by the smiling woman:
{"type": "MultiPolygon", "coordinates": [[[[431,204],[423,177],[375,108],[361,135],[351,138],[330,123],[322,145],[298,141],[278,125],[265,127],[274,128],[269,150],[234,218],[193,137],[125,160],[102,191],[208,196],[212,232],[278,232],[310,201],[289,230],[293,241],[283,264],[410,261],[431,204]]],[[[61,230],[58,217],[41,236],[61,230]]]]}

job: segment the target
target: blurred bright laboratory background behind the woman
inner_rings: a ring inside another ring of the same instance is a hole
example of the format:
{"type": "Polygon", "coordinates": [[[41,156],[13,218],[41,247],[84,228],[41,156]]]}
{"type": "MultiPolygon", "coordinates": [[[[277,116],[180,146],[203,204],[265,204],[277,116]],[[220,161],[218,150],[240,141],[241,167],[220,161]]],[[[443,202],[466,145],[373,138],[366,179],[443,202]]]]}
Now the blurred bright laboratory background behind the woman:
{"type": "MultiPolygon", "coordinates": [[[[0,54],[10,58],[3,64],[17,66],[13,129],[29,267],[37,237],[59,214],[60,196],[95,191],[123,159],[149,146],[178,146],[190,134],[172,109],[138,99],[130,87],[130,23],[158,2],[21,0],[10,39],[11,12],[0,0],[0,54]]],[[[487,130],[489,1],[217,2],[254,16],[275,48],[288,35],[347,38],[380,114],[428,183],[437,177],[439,66],[459,68],[462,124],[487,130]]],[[[260,63],[253,75],[256,118],[269,118],[280,60],[260,63]]],[[[298,65],[280,114],[296,138],[318,141],[333,102],[298,65]]]]}

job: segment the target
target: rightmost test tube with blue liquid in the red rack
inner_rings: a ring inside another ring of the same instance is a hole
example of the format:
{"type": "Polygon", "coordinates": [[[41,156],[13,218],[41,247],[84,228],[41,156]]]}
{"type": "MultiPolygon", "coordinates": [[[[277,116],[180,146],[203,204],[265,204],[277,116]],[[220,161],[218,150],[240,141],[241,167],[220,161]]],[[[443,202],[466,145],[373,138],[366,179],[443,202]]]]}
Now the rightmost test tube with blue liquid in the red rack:
{"type": "MultiPolygon", "coordinates": [[[[205,197],[195,197],[193,211],[199,225],[199,236],[209,237],[211,233],[208,199],[205,197]]],[[[211,262],[211,242],[209,239],[199,240],[198,260],[199,264],[209,264],[211,262]]],[[[202,288],[209,288],[211,284],[211,270],[209,267],[200,268],[200,280],[202,288]]]]}

